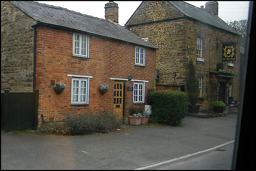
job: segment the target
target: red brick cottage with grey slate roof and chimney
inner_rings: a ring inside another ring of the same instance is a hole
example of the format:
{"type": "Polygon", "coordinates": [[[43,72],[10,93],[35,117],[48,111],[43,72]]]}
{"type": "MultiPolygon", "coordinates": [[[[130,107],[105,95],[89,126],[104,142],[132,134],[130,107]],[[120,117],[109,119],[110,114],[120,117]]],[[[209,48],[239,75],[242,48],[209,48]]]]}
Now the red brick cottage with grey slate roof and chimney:
{"type": "Polygon", "coordinates": [[[114,111],[121,118],[147,104],[157,48],[118,25],[116,3],[105,12],[103,20],[38,2],[1,2],[1,91],[38,89],[38,124],[41,114],[57,121],[114,111]],[[59,82],[67,86],[60,94],[53,88],[59,82]]]}

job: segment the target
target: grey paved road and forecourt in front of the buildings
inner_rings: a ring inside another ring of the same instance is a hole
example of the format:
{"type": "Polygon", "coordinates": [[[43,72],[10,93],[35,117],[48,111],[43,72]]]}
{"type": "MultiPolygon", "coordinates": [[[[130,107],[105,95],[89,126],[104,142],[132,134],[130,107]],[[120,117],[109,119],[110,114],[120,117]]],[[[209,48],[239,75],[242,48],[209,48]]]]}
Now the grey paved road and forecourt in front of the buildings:
{"type": "Polygon", "coordinates": [[[180,127],[83,136],[2,133],[1,169],[231,169],[236,120],[186,116],[180,127]]]}

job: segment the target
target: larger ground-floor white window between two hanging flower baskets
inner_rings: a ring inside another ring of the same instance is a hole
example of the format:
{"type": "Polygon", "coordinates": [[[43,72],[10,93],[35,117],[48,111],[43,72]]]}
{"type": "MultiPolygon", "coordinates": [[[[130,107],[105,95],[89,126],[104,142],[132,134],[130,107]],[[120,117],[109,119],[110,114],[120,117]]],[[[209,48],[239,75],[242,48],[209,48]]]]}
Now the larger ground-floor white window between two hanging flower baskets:
{"type": "Polygon", "coordinates": [[[88,104],[89,80],[72,78],[71,104],[88,104]]]}

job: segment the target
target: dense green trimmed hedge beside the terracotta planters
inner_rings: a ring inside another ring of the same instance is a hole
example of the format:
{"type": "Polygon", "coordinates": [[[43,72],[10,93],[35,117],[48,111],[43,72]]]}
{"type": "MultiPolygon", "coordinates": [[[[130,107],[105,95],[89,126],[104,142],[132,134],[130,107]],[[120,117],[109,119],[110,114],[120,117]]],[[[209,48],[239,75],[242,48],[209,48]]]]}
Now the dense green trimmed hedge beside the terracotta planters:
{"type": "Polygon", "coordinates": [[[148,94],[148,102],[152,105],[152,115],[155,122],[180,126],[188,111],[188,97],[184,92],[159,90],[148,94]]]}

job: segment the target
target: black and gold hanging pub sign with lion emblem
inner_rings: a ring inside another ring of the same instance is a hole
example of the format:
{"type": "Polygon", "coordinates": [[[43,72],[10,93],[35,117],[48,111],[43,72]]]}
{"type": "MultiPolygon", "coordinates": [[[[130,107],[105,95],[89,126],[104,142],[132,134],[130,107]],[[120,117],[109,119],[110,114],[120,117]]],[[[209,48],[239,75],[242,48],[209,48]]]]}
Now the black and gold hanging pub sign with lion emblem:
{"type": "Polygon", "coordinates": [[[236,44],[222,45],[222,61],[236,60],[236,44]]]}

